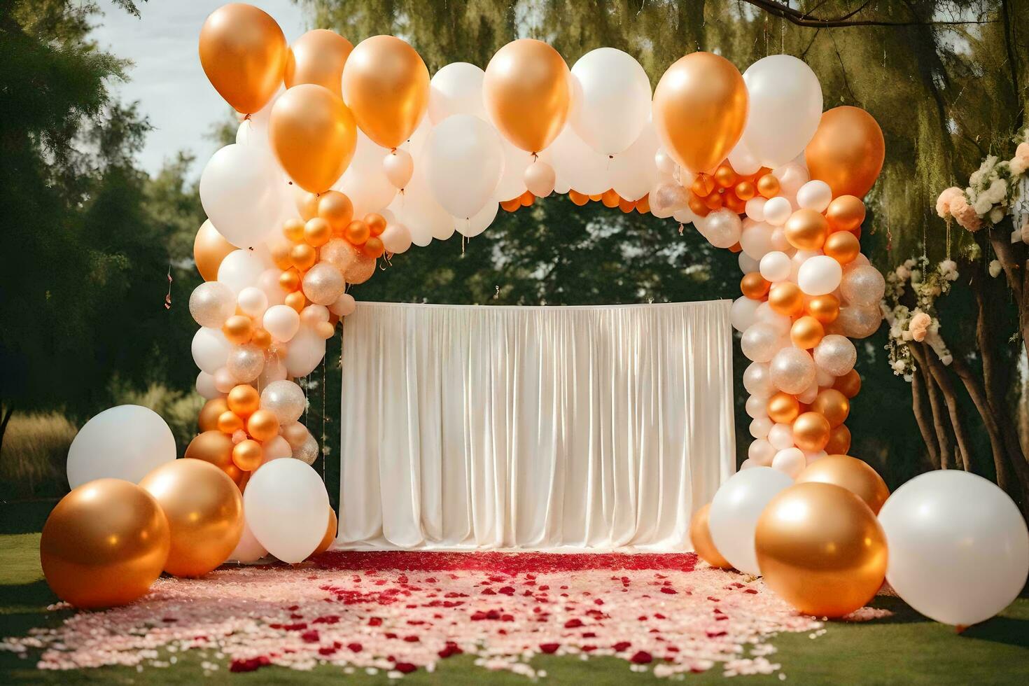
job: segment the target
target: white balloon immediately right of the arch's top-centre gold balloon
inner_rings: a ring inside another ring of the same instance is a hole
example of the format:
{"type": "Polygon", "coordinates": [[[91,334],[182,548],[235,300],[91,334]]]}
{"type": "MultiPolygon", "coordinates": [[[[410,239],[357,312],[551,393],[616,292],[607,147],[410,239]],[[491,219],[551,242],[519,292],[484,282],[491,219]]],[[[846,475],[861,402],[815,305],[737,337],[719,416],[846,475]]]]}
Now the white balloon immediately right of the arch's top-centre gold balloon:
{"type": "Polygon", "coordinates": [[[650,79],[640,63],[614,47],[590,50],[571,69],[575,97],[568,123],[597,152],[622,152],[650,118],[650,79]]]}

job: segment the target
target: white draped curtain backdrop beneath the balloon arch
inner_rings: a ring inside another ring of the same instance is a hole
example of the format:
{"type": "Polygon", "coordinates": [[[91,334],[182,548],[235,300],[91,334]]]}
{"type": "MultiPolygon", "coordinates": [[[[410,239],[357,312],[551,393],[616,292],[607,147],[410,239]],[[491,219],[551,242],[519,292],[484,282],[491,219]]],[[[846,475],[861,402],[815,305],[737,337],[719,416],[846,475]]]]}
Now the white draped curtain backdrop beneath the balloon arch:
{"type": "Polygon", "coordinates": [[[358,303],[336,547],[689,549],[735,471],[729,308],[358,303]]]}

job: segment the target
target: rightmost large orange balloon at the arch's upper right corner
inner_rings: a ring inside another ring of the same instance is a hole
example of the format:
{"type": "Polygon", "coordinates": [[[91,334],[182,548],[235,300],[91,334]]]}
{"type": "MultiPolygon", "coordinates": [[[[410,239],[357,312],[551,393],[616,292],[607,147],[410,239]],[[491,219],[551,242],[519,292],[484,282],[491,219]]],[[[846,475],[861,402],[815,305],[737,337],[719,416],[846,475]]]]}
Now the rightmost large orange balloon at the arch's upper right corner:
{"type": "Polygon", "coordinates": [[[883,169],[886,143],[871,114],[844,105],[822,113],[804,155],[811,178],[829,184],[833,197],[864,197],[883,169]]]}

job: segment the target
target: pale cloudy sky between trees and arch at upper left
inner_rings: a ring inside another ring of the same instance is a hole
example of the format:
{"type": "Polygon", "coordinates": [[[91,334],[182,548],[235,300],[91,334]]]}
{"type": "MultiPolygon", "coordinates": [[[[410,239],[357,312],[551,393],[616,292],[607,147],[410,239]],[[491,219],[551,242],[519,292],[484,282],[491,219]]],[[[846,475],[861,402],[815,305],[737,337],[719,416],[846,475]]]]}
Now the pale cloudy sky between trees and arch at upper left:
{"type": "MultiPolygon", "coordinates": [[[[110,0],[99,2],[104,16],[94,38],[101,47],[134,63],[129,81],[112,82],[112,89],[122,102],[138,102],[153,127],[139,157],[140,166],[151,174],[179,150],[189,150],[197,155],[193,173],[199,176],[217,147],[207,134],[232,110],[204,75],[197,41],[204,20],[226,1],[137,2],[141,19],[110,0]]],[[[275,17],[290,43],[308,28],[290,0],[247,1],[275,17]]]]}

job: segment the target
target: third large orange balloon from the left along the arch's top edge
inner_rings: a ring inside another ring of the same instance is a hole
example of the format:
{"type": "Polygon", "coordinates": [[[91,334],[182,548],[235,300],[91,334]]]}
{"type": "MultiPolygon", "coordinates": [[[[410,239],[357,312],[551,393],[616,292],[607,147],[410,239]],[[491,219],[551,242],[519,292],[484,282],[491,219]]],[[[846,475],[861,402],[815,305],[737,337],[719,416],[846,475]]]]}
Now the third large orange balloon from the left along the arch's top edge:
{"type": "Polygon", "coordinates": [[[404,41],[372,36],[347,59],[343,99],[368,138],[395,148],[411,138],[429,106],[429,70],[404,41]]]}

